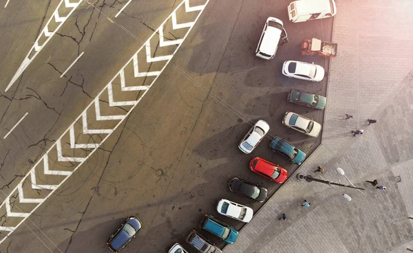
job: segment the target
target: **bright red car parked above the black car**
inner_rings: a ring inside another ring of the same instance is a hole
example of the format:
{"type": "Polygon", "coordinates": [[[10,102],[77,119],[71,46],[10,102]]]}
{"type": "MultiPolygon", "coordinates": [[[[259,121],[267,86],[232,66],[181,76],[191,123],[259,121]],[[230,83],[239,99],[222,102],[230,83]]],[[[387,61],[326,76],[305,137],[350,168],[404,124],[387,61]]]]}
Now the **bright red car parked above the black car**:
{"type": "Polygon", "coordinates": [[[282,184],[287,180],[288,173],[285,168],[268,162],[260,157],[254,157],[250,162],[250,169],[271,181],[282,184]]]}

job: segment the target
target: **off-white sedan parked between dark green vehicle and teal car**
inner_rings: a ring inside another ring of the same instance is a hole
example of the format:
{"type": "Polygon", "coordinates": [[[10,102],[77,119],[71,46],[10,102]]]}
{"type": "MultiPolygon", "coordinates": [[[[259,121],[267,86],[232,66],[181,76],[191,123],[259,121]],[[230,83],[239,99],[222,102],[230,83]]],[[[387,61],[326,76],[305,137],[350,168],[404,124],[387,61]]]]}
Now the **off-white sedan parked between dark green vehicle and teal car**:
{"type": "Polygon", "coordinates": [[[286,112],[282,124],[311,137],[317,137],[321,132],[321,124],[290,111],[286,112]]]}

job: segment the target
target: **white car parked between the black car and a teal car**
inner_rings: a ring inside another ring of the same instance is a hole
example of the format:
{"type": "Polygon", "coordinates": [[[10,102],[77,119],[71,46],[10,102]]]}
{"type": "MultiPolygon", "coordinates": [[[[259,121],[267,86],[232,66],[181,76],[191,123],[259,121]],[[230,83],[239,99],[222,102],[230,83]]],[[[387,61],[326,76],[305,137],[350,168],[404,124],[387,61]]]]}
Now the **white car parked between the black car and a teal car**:
{"type": "Polygon", "coordinates": [[[217,211],[227,217],[237,219],[248,223],[253,219],[254,211],[248,206],[242,206],[239,203],[229,201],[228,199],[220,199],[217,205],[217,211]]]}

